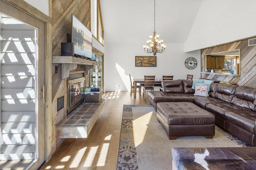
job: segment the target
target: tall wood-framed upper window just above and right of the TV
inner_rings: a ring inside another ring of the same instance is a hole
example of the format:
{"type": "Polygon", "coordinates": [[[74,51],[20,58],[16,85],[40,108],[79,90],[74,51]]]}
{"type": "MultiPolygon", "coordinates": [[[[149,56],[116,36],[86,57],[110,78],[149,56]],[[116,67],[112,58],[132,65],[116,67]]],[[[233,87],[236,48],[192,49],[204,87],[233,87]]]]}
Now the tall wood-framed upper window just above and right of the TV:
{"type": "Polygon", "coordinates": [[[104,43],[104,29],[102,23],[102,15],[100,9],[100,0],[91,0],[91,32],[92,35],[104,43]]]}

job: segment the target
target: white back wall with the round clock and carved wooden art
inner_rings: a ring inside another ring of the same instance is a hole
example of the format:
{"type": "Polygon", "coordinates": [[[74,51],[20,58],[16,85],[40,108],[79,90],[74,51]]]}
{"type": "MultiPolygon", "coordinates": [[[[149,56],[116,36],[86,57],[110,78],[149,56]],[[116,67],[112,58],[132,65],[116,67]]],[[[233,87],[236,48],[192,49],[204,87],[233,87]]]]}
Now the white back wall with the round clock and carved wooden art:
{"type": "Polygon", "coordinates": [[[184,53],[183,43],[166,45],[166,51],[156,55],[156,67],[135,67],[135,56],[153,56],[144,52],[141,43],[105,43],[105,90],[130,90],[129,74],[133,78],[144,78],[144,75],[155,75],[156,78],[174,75],[174,79],[186,79],[187,74],[200,78],[200,50],[184,53]],[[188,57],[194,57],[198,61],[194,70],[189,70],[184,65],[188,57]]]}

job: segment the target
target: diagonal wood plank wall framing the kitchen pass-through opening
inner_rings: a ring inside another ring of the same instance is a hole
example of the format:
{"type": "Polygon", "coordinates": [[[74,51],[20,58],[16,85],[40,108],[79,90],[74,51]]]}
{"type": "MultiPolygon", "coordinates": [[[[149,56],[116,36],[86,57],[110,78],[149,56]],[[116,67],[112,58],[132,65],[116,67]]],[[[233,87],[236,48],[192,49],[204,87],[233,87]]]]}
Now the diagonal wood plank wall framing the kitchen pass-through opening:
{"type": "Polygon", "coordinates": [[[256,88],[256,45],[248,47],[248,39],[235,41],[201,49],[201,72],[204,72],[204,55],[219,53],[224,51],[234,51],[240,49],[241,76],[222,76],[218,74],[201,74],[201,78],[220,80],[225,82],[236,82],[238,85],[256,88]]]}

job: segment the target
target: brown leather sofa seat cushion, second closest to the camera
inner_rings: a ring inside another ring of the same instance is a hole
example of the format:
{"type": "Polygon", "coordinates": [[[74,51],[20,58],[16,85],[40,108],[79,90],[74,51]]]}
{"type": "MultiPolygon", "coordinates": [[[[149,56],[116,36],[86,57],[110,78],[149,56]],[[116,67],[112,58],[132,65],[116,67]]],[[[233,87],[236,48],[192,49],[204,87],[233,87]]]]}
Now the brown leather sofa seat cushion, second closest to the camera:
{"type": "Polygon", "coordinates": [[[205,108],[207,111],[210,111],[211,113],[222,119],[224,119],[224,114],[227,111],[252,111],[251,109],[236,106],[234,104],[230,104],[228,102],[223,101],[219,101],[217,104],[207,104],[205,108]]]}

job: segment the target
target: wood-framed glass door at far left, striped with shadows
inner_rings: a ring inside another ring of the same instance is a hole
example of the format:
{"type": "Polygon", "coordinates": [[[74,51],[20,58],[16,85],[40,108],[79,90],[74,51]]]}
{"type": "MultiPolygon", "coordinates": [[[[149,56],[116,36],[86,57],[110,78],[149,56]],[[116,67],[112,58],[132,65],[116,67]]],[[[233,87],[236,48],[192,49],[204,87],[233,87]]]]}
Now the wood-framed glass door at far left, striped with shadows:
{"type": "Polygon", "coordinates": [[[0,1],[0,169],[37,169],[45,160],[44,29],[0,1]]]}

